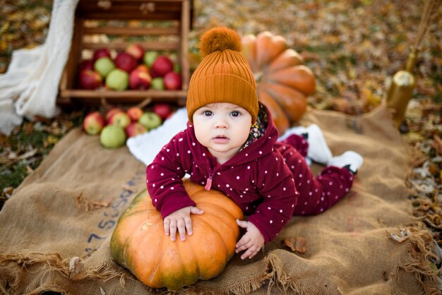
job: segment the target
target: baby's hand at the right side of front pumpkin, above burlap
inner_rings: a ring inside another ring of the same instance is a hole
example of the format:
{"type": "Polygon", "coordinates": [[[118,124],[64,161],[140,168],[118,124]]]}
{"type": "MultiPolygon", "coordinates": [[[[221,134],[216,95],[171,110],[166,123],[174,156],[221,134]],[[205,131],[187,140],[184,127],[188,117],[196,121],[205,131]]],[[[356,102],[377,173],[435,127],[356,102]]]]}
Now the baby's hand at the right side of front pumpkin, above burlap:
{"type": "Polygon", "coordinates": [[[247,229],[247,232],[244,236],[241,236],[235,252],[239,253],[240,251],[247,249],[247,251],[241,255],[241,259],[246,259],[248,257],[253,258],[253,256],[261,250],[261,247],[264,244],[263,234],[261,234],[261,231],[259,231],[255,224],[251,222],[237,219],[237,224],[243,229],[247,229]]]}

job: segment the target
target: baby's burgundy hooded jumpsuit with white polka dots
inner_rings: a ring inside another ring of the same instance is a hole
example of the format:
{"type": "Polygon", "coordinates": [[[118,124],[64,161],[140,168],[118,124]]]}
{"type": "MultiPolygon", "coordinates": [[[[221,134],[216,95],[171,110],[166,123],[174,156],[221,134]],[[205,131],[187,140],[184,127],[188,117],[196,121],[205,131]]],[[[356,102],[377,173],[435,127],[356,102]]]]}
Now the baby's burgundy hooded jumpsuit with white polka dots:
{"type": "Polygon", "coordinates": [[[304,137],[278,142],[270,112],[261,108],[268,122],[263,134],[224,164],[198,143],[190,123],[162,148],[146,168],[146,183],[163,218],[196,205],[182,185],[189,174],[191,181],[232,198],[267,243],[292,215],[319,214],[350,190],[353,174],[345,168],[325,167],[313,176],[304,158],[309,147],[304,137]]]}

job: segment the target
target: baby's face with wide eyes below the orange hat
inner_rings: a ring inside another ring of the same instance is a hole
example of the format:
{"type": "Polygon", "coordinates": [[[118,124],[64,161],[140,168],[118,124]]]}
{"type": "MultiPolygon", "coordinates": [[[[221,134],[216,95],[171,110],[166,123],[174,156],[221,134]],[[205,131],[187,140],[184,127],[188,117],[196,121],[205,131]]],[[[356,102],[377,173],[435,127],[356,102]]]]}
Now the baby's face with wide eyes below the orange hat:
{"type": "Polygon", "coordinates": [[[206,104],[193,113],[196,139],[222,162],[233,157],[249,137],[251,115],[229,102],[206,104]]]}

